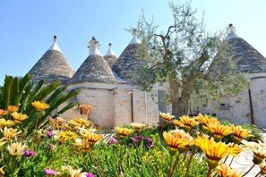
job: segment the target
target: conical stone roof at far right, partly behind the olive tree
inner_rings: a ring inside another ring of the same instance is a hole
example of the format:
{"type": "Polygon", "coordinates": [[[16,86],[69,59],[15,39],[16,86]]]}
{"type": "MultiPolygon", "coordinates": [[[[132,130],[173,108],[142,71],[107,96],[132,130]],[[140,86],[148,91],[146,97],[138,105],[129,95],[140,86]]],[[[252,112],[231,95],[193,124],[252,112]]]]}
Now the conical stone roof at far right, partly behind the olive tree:
{"type": "Polygon", "coordinates": [[[237,59],[237,68],[241,72],[266,72],[266,58],[259,53],[253,46],[245,41],[244,38],[236,36],[236,30],[230,24],[229,34],[226,41],[228,52],[237,59]]]}

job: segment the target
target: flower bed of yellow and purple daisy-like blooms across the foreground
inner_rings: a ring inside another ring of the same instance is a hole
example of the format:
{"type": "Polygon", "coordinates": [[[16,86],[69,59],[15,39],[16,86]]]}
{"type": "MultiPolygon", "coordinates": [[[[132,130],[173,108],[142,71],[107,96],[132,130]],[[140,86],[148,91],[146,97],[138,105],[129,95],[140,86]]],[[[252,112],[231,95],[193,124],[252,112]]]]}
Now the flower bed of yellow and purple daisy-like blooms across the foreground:
{"type": "Polygon", "coordinates": [[[42,126],[49,105],[32,106],[39,113],[32,133],[21,127],[28,116],[19,106],[0,109],[0,176],[245,176],[249,169],[230,167],[244,147],[253,151],[251,169],[266,171],[266,145],[249,141],[252,131],[209,115],[161,113],[159,127],[133,122],[104,134],[80,118],[51,117],[42,126]]]}

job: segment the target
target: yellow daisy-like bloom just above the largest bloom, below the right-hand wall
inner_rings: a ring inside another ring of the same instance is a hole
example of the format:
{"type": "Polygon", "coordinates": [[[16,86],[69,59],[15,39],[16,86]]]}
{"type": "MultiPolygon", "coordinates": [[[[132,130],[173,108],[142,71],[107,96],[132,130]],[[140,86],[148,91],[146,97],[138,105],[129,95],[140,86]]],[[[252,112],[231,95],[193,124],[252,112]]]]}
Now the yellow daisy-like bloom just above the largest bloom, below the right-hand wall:
{"type": "Polygon", "coordinates": [[[219,122],[209,123],[207,126],[216,142],[233,132],[229,126],[222,125],[219,122]]]}

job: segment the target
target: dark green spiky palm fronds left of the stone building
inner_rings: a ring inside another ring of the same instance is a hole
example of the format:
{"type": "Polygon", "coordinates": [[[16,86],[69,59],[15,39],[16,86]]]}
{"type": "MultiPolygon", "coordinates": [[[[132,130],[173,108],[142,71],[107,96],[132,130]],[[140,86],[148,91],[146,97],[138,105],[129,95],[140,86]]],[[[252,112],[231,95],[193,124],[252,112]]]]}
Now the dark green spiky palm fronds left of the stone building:
{"type": "MultiPolygon", "coordinates": [[[[66,86],[61,86],[55,81],[45,84],[45,80],[33,83],[31,77],[27,74],[23,78],[5,76],[4,85],[0,87],[0,109],[7,110],[8,105],[19,106],[19,113],[27,114],[29,117],[19,126],[21,129],[27,129],[28,133],[36,127],[38,117],[39,126],[47,124],[49,116],[56,117],[72,108],[77,103],[68,102],[72,97],[79,94],[78,89],[66,90],[66,86]],[[31,105],[34,101],[46,102],[49,108],[39,115],[39,112],[31,105]],[[58,107],[61,105],[61,109],[58,107]]],[[[11,115],[9,116],[12,119],[11,115]]]]}

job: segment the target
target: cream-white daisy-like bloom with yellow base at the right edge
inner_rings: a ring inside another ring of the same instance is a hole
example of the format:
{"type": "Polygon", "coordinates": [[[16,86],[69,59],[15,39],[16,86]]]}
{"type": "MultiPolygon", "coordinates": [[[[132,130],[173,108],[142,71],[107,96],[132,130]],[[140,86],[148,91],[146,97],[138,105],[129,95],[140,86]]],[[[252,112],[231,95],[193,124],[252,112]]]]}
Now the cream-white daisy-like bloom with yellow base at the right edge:
{"type": "Polygon", "coordinates": [[[245,139],[241,141],[245,145],[253,151],[253,163],[261,164],[262,160],[266,158],[266,146],[261,141],[259,143],[256,142],[248,142],[245,139]]]}

